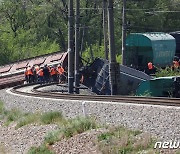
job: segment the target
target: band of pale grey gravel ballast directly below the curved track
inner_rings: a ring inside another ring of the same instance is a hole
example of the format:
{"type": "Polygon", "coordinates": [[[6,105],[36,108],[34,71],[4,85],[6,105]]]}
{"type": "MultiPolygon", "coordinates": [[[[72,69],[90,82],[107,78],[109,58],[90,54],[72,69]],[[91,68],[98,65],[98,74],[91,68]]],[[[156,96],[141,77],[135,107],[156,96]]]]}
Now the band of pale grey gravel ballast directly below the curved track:
{"type": "Polygon", "coordinates": [[[68,118],[90,115],[102,123],[149,132],[162,141],[180,140],[179,107],[32,98],[12,95],[6,90],[0,91],[0,100],[8,110],[60,111],[68,118]]]}

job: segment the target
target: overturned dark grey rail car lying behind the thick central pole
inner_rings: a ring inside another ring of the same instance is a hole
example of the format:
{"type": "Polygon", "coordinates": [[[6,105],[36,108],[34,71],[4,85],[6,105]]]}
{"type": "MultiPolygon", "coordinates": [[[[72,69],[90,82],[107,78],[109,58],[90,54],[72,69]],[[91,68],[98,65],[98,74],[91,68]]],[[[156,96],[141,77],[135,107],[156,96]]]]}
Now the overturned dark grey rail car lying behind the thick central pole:
{"type": "MultiPolygon", "coordinates": [[[[93,92],[99,95],[110,95],[109,85],[109,62],[104,59],[95,59],[88,67],[82,69],[84,85],[90,87],[93,92]]],[[[152,79],[144,72],[120,65],[120,94],[135,94],[136,89],[142,81],[152,79]]]]}

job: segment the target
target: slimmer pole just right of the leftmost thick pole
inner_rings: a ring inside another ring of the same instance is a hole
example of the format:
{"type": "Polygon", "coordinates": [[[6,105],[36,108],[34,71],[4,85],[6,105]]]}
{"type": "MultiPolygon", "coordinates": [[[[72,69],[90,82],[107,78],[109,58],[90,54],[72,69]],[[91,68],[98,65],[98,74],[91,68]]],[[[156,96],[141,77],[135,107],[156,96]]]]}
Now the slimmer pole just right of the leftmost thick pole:
{"type": "Polygon", "coordinates": [[[75,17],[75,87],[76,93],[79,94],[79,0],[76,0],[76,17],[75,17]]]}

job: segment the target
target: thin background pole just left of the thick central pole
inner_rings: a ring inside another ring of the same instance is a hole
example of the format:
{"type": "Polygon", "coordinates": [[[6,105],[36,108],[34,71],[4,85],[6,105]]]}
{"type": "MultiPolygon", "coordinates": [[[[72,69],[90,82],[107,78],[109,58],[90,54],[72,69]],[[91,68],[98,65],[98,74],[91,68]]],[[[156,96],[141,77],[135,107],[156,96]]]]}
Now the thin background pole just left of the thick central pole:
{"type": "Polygon", "coordinates": [[[107,43],[107,0],[103,0],[103,32],[104,32],[104,51],[105,58],[108,60],[108,43],[107,43]]]}

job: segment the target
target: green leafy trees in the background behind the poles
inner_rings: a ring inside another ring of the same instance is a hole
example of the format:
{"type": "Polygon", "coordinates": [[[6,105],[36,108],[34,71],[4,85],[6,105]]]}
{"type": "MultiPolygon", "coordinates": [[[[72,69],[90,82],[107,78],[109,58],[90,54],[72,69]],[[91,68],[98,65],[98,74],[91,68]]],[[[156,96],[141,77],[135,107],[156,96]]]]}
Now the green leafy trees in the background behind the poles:
{"type": "MultiPolygon", "coordinates": [[[[103,0],[80,0],[80,50],[104,57],[103,0]],[[97,54],[98,53],[98,54],[97,54]]],[[[127,34],[178,31],[179,0],[127,0],[127,34]]],[[[115,44],[121,54],[122,1],[114,0],[115,44]]],[[[67,50],[68,0],[1,0],[0,65],[67,50]]],[[[88,57],[89,56],[89,57],[88,57]]]]}

